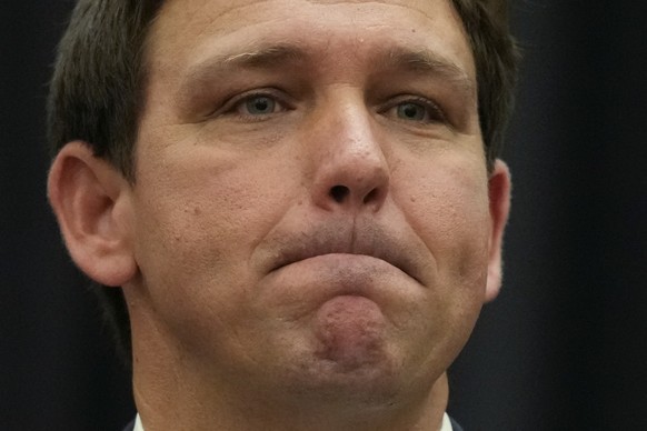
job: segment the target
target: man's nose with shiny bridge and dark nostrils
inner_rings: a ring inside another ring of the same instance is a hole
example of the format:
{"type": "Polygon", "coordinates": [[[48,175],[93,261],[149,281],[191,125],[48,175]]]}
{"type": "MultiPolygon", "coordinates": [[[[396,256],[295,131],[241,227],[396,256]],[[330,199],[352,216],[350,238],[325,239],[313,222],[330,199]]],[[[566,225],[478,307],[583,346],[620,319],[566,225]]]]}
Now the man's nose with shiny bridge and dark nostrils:
{"type": "Polygon", "coordinates": [[[390,172],[364,101],[330,102],[319,111],[306,131],[315,204],[327,211],[378,211],[390,172]]]}

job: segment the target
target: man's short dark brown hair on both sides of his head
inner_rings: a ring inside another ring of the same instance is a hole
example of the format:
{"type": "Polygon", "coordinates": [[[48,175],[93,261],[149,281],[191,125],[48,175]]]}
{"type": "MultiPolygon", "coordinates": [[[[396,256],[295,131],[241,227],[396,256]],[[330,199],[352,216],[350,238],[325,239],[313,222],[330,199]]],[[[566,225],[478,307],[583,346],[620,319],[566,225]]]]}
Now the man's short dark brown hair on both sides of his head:
{"type": "MultiPolygon", "coordinates": [[[[478,110],[488,168],[511,112],[517,51],[507,0],[451,0],[476,61],[478,110]]],[[[133,148],[145,103],[146,40],[162,0],[79,0],[62,37],[48,99],[52,157],[80,140],[135,182],[133,148]]],[[[94,291],[130,361],[130,322],[121,289],[94,291]]]]}

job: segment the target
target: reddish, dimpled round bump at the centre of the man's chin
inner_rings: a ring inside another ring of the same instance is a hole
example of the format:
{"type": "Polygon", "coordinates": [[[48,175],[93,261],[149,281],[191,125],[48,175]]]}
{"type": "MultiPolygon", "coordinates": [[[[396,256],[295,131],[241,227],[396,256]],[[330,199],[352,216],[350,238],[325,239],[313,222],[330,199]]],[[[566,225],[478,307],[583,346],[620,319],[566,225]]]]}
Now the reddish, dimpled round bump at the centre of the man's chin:
{"type": "Polygon", "coordinates": [[[386,321],[379,307],[365,297],[342,295],[326,302],[312,324],[317,359],[336,372],[352,372],[385,360],[386,321]]]}

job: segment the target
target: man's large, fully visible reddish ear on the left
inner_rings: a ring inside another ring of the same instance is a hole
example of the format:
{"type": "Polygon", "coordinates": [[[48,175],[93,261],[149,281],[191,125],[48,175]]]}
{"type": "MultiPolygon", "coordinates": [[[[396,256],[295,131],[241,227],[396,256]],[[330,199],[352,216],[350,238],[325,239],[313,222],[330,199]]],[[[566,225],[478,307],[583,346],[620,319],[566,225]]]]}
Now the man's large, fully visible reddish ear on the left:
{"type": "Polygon", "coordinates": [[[137,273],[130,191],[128,181],[84,142],[63,147],[49,172],[49,200],[70,255],[103,285],[123,285],[137,273]]]}

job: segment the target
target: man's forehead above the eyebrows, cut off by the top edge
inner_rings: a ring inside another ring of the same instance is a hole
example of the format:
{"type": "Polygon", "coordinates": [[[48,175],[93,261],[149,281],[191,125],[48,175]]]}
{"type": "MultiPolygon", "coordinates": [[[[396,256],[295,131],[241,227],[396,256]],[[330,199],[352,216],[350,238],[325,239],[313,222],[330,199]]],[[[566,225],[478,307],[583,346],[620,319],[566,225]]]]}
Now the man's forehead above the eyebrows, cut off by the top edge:
{"type": "MultiPolygon", "coordinates": [[[[428,51],[474,78],[460,18],[449,0],[167,0],[148,40],[152,71],[182,73],[210,58],[289,43],[313,56],[375,54],[395,46],[428,51]]],[[[369,58],[370,60],[370,58],[369,58]]]]}

